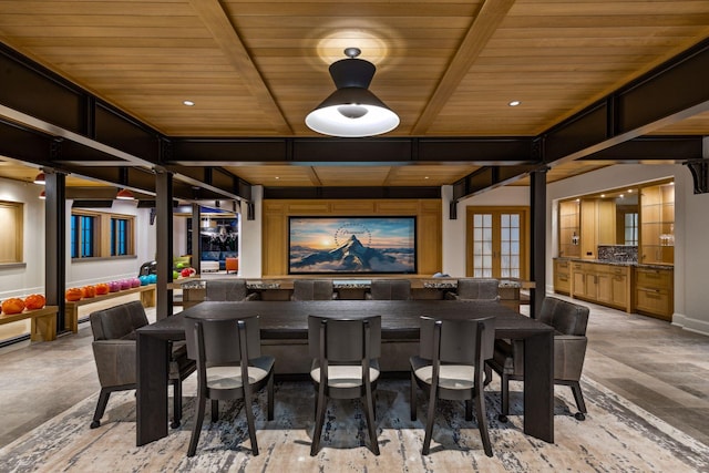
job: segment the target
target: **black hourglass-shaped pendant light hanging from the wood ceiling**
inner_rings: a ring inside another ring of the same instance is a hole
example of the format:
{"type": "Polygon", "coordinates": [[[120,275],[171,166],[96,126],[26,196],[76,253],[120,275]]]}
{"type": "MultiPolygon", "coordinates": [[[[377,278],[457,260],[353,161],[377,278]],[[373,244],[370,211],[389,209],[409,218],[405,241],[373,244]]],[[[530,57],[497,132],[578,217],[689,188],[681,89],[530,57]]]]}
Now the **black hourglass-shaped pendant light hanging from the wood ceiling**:
{"type": "Polygon", "coordinates": [[[399,116],[367,88],[377,68],[356,59],[359,48],[347,48],[329,71],[337,90],[306,116],[306,125],[323,135],[363,137],[380,135],[399,126],[399,116]]]}

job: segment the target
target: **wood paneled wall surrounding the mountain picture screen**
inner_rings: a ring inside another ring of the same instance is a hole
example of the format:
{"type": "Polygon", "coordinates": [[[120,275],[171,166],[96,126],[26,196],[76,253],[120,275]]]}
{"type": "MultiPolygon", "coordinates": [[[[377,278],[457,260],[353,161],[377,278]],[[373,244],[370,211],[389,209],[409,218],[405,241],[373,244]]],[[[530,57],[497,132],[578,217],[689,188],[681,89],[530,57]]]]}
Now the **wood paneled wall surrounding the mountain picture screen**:
{"type": "Polygon", "coordinates": [[[289,216],[415,216],[418,274],[431,276],[443,265],[440,199],[264,200],[263,276],[288,275],[289,216]]]}

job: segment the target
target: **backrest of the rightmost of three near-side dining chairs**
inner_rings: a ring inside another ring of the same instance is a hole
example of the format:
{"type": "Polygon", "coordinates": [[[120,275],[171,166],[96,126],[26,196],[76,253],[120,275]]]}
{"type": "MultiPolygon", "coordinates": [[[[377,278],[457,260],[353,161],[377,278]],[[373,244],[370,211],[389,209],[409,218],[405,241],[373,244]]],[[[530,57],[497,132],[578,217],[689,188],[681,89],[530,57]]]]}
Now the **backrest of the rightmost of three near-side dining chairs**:
{"type": "Polygon", "coordinates": [[[495,317],[481,319],[434,319],[421,317],[419,354],[443,363],[475,364],[492,358],[495,343],[495,317]],[[436,330],[438,326],[438,330],[436,330]],[[439,331],[440,330],[440,331],[439,331]],[[436,333],[440,339],[436,340],[436,333]]]}

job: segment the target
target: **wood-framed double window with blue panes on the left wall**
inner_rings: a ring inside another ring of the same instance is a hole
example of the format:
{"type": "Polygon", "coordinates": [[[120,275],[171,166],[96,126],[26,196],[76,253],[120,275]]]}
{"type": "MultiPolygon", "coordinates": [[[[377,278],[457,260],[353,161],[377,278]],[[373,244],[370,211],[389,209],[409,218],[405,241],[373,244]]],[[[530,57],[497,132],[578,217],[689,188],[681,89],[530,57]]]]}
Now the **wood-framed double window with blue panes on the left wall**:
{"type": "Polygon", "coordinates": [[[100,258],[134,255],[132,215],[73,210],[71,215],[71,257],[100,258]]]}

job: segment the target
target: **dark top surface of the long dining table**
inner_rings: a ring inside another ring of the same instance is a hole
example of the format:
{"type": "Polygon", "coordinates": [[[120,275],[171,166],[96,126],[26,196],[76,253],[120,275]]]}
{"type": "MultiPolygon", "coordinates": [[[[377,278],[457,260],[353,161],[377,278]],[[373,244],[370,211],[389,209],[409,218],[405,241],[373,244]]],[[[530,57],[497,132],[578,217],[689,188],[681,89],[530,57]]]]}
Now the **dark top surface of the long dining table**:
{"type": "Polygon", "coordinates": [[[553,328],[500,302],[460,300],[314,300],[204,301],[138,329],[161,338],[184,338],[184,317],[237,319],[259,317],[261,339],[305,339],[308,315],[331,317],[382,316],[382,339],[419,339],[420,317],[476,319],[495,316],[497,338],[526,338],[552,333],[553,328]]]}

